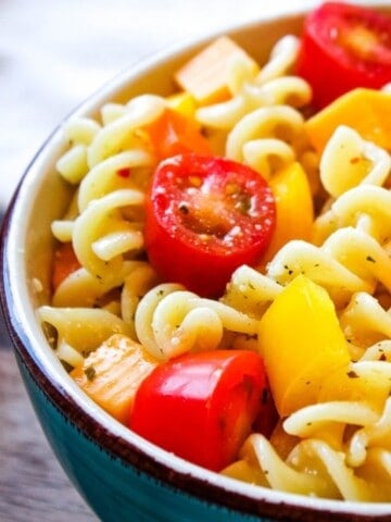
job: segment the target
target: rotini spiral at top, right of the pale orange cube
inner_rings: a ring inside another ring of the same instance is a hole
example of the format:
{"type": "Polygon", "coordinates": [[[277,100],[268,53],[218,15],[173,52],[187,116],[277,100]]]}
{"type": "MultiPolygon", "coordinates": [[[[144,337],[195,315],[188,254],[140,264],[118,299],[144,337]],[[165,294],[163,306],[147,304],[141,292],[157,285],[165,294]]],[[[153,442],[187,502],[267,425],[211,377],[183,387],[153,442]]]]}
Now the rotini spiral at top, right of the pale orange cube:
{"type": "Polygon", "coordinates": [[[232,66],[232,98],[197,111],[198,121],[206,129],[227,133],[228,158],[244,160],[266,178],[295,158],[304,157],[310,169],[314,158],[305,144],[303,117],[298,110],[311,100],[311,89],[302,78],[288,75],[298,47],[298,38],[281,38],[267,64],[254,76],[243,73],[244,65],[232,66]]]}

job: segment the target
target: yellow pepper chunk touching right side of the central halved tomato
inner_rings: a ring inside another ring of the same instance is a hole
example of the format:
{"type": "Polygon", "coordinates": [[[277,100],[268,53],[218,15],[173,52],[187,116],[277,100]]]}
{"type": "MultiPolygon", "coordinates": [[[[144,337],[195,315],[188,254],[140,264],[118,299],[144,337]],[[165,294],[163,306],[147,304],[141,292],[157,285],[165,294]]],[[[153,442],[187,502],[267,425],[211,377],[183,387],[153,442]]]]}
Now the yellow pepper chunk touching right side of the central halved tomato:
{"type": "Polygon", "coordinates": [[[268,182],[276,200],[276,228],[262,265],[291,239],[310,240],[314,222],[314,206],[307,176],[294,162],[277,172],[268,182]]]}

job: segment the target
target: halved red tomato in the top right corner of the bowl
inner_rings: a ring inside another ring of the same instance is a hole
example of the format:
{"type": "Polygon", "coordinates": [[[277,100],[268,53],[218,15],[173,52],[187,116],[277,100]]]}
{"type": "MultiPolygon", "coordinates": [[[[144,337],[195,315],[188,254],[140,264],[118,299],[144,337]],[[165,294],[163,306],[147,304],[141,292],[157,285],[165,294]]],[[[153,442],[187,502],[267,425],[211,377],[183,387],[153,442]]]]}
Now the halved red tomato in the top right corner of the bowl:
{"type": "Polygon", "coordinates": [[[326,2],[305,20],[297,73],[320,109],[356,87],[391,82],[391,18],[369,8],[326,2]]]}

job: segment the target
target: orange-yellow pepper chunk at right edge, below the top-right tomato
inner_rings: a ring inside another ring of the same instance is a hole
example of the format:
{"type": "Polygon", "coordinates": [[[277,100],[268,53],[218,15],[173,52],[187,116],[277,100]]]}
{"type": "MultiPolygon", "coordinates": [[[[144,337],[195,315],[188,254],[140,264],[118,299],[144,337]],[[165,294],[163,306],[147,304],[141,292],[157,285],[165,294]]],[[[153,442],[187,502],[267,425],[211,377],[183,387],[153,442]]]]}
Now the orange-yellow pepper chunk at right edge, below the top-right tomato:
{"type": "Polygon", "coordinates": [[[364,139],[391,150],[391,94],[357,88],[307,120],[308,139],[319,154],[339,125],[348,125],[364,139]]]}

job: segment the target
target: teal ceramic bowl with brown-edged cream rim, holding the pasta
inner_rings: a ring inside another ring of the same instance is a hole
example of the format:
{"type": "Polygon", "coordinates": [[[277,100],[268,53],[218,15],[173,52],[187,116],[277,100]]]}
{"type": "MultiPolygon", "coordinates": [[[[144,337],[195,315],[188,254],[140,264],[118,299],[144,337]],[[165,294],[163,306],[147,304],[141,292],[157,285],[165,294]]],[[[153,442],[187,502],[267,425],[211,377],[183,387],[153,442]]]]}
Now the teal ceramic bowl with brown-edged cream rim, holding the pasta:
{"type": "MultiPolygon", "coordinates": [[[[300,32],[304,13],[293,11],[228,33],[262,62],[279,37],[300,32]]],[[[125,101],[151,92],[152,86],[167,95],[173,72],[206,41],[122,73],[73,115],[94,115],[105,101],[125,101]]],[[[113,421],[79,390],[53,355],[35,314],[49,300],[50,223],[61,216],[67,201],[64,184],[53,175],[65,147],[60,125],[28,166],[9,208],[2,231],[1,300],[36,414],[56,458],[97,515],[115,522],[391,520],[391,504],[285,494],[190,464],[113,421]]]]}

